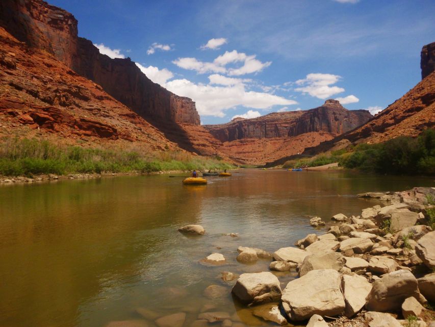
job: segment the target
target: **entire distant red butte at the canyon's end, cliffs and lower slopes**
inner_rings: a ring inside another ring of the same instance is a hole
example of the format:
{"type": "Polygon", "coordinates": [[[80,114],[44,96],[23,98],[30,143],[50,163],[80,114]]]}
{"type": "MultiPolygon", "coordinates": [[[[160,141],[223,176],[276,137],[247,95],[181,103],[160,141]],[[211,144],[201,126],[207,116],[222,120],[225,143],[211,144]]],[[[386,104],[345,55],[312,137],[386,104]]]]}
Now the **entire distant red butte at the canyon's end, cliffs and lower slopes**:
{"type": "Polygon", "coordinates": [[[304,111],[274,112],[253,119],[235,118],[220,125],[204,125],[229,157],[249,164],[296,154],[363,125],[372,118],[367,110],[347,110],[337,100],[326,100],[304,111]]]}

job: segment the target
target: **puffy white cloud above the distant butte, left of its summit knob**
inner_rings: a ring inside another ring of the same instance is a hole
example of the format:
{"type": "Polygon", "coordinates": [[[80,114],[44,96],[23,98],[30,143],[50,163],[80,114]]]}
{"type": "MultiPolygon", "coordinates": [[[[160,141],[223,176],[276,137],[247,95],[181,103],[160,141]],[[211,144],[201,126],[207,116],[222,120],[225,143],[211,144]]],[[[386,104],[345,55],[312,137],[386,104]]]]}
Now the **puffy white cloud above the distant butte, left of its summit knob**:
{"type": "Polygon", "coordinates": [[[332,95],[344,92],[344,88],[338,86],[330,86],[337,83],[341,76],[332,74],[308,74],[306,78],[297,80],[296,85],[301,87],[295,88],[295,91],[309,94],[312,97],[326,99],[332,95]]]}

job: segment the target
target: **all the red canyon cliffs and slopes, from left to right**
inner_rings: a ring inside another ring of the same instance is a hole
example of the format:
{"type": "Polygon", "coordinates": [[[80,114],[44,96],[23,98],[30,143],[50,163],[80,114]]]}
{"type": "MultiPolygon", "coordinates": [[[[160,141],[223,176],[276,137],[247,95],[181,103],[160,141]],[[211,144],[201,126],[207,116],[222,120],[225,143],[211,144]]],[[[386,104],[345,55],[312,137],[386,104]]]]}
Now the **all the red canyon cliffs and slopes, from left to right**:
{"type": "Polygon", "coordinates": [[[433,126],[435,43],[421,53],[424,83],[375,117],[326,100],[310,110],[202,126],[192,99],[153,83],[130,58],[100,54],[77,26],[72,14],[42,0],[0,2],[0,137],[188,151],[260,165],[343,138],[382,142],[433,126]]]}

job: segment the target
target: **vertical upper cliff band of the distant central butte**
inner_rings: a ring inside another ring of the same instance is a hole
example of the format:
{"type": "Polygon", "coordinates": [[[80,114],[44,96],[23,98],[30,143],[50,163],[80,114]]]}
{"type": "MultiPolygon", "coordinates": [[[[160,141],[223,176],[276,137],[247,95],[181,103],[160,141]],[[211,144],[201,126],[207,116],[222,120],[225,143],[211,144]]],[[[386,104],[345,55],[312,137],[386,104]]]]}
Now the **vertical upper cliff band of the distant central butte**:
{"type": "Polygon", "coordinates": [[[220,125],[204,125],[221,142],[244,138],[292,137],[304,133],[341,134],[366,123],[372,115],[367,110],[347,110],[337,100],[326,100],[317,108],[305,111],[274,112],[253,119],[236,118],[220,125]]]}

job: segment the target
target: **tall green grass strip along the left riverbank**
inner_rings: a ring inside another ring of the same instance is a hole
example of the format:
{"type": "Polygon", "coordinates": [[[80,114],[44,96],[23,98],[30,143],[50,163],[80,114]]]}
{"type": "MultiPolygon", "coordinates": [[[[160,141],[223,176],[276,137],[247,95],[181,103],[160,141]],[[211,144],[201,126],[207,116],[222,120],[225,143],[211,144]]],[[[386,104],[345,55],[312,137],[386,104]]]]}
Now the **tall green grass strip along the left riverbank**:
{"type": "Polygon", "coordinates": [[[0,145],[0,174],[5,176],[132,171],[146,173],[232,167],[220,158],[193,156],[185,152],[87,149],[37,139],[7,139],[0,145]]]}

